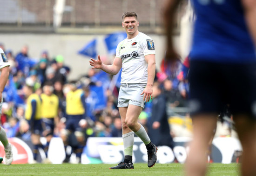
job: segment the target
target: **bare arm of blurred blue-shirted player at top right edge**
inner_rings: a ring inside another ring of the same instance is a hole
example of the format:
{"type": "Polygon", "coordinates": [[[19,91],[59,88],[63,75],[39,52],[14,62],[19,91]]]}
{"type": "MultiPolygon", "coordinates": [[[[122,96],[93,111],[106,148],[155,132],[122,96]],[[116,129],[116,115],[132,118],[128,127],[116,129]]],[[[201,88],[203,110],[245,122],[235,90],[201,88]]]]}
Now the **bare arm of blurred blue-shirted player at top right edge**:
{"type": "Polygon", "coordinates": [[[242,0],[242,3],[245,11],[247,26],[256,46],[256,0],[242,0]]]}

